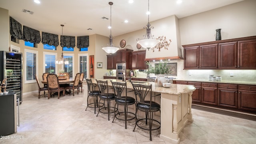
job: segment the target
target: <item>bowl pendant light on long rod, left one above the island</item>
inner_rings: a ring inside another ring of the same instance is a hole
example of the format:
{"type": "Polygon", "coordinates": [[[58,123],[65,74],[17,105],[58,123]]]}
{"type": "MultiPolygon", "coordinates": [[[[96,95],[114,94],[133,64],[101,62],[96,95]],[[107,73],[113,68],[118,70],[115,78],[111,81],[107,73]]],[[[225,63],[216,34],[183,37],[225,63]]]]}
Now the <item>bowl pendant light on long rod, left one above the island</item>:
{"type": "Polygon", "coordinates": [[[109,43],[106,46],[102,46],[102,50],[105,50],[106,53],[108,54],[114,54],[116,53],[116,51],[119,50],[119,48],[115,47],[113,44],[113,37],[111,35],[111,6],[113,5],[113,2],[108,2],[108,4],[110,5],[110,36],[109,36],[109,43]]]}

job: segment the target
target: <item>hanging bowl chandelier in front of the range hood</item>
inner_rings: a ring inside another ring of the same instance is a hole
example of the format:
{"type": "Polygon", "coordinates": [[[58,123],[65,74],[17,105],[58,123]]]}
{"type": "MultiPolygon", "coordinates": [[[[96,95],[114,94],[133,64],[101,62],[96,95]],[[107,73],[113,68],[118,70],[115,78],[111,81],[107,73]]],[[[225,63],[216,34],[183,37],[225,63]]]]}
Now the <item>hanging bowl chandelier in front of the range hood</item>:
{"type": "Polygon", "coordinates": [[[160,40],[158,39],[153,39],[154,35],[152,36],[151,34],[151,28],[154,28],[154,27],[153,26],[150,27],[150,26],[151,25],[149,23],[149,0],[148,0],[148,24],[144,26],[144,28],[146,28],[146,35],[143,40],[140,40],[139,38],[137,38],[137,43],[140,44],[142,47],[147,48],[148,50],[150,48],[154,48],[156,44],[160,42],[160,40]]]}

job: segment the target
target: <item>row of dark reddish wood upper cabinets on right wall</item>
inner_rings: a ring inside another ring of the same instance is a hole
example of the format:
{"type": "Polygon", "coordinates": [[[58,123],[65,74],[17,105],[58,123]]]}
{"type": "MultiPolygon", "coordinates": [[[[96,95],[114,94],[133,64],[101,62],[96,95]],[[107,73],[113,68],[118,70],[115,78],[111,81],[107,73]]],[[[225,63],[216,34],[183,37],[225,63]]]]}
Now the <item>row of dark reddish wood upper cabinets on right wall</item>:
{"type": "Polygon", "coordinates": [[[256,69],[256,36],[183,47],[184,69],[256,69]]]}

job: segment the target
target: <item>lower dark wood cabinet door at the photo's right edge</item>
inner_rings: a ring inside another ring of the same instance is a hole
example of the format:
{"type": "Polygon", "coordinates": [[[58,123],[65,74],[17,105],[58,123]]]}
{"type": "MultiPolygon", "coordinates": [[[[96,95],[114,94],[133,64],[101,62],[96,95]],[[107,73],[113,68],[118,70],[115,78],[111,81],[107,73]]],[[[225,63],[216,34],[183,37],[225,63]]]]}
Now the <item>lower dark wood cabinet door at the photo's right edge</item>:
{"type": "Polygon", "coordinates": [[[256,112],[256,91],[238,90],[238,108],[256,112]]]}

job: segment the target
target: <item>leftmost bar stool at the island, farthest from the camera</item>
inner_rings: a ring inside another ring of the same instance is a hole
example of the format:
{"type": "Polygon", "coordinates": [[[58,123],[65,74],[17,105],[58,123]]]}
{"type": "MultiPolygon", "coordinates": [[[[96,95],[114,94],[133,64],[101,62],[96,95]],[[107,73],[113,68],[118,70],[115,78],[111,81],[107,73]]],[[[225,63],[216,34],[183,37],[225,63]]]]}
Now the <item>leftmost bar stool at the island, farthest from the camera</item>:
{"type": "Polygon", "coordinates": [[[87,87],[88,87],[88,96],[87,96],[87,107],[85,110],[87,110],[88,107],[94,108],[94,114],[96,114],[96,108],[104,105],[103,103],[98,102],[98,98],[100,96],[100,91],[96,90],[96,87],[98,87],[98,86],[96,84],[92,83],[92,79],[86,78],[86,83],[87,83],[87,87]],[[88,103],[89,96],[93,97],[93,102],[90,104],[88,103]],[[100,104],[102,104],[102,105],[100,106],[100,104]],[[93,105],[93,106],[90,106],[90,105],[93,105]]]}

